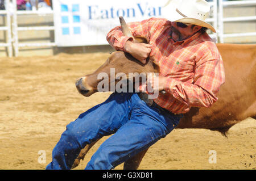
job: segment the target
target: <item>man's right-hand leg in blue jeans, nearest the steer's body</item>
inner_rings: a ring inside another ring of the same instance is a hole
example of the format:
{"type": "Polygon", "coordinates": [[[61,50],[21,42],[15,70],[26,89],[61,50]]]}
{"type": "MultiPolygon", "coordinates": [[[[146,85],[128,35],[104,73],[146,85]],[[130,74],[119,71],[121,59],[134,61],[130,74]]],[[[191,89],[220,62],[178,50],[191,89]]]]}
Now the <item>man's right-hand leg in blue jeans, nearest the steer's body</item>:
{"type": "Polygon", "coordinates": [[[158,108],[141,103],[133,108],[130,120],[98,148],[85,169],[113,169],[165,137],[179,123],[179,115],[160,113],[158,108]]]}

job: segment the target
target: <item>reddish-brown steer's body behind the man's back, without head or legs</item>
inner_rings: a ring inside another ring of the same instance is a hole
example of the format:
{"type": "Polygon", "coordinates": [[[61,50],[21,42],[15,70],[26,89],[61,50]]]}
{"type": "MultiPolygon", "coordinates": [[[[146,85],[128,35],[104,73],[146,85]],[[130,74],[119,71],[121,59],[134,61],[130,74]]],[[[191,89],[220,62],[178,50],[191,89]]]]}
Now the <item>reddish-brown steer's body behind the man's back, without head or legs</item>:
{"type": "Polygon", "coordinates": [[[205,128],[225,134],[234,124],[256,116],[256,45],[217,44],[225,83],[210,108],[191,108],[177,128],[205,128]]]}

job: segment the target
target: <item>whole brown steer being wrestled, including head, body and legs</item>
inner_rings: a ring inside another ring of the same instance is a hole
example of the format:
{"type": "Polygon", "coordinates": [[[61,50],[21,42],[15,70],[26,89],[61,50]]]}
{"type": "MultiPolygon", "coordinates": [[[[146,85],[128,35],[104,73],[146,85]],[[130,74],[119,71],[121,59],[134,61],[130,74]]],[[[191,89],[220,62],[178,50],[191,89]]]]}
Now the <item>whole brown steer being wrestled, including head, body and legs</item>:
{"type": "MultiPolygon", "coordinates": [[[[234,124],[247,117],[256,119],[256,45],[217,44],[217,47],[225,66],[225,84],[218,93],[218,100],[210,108],[191,108],[177,128],[204,128],[226,136],[234,124]]],[[[142,65],[129,54],[117,51],[94,73],[78,79],[76,86],[79,92],[84,96],[97,92],[97,83],[100,81],[97,80],[97,74],[109,73],[110,68],[115,68],[116,73],[159,71],[158,65],[152,60],[142,65]]],[[[81,150],[73,167],[79,164],[95,142],[81,150]]],[[[123,168],[138,169],[146,151],[130,158],[123,168]]]]}

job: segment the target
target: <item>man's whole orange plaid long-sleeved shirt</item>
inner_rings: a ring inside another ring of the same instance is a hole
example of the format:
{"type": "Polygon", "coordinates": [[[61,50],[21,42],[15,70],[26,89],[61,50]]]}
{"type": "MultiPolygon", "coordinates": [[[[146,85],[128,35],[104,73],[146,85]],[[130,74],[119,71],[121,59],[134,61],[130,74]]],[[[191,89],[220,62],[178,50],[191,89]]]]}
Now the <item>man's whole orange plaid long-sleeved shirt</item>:
{"type": "MultiPolygon", "coordinates": [[[[160,66],[159,76],[168,77],[167,94],[159,93],[154,102],[173,113],[185,113],[191,107],[210,107],[217,101],[217,92],[225,82],[224,66],[216,44],[207,33],[177,41],[171,39],[171,22],[151,18],[127,23],[133,36],[144,36],[152,45],[152,56],[160,66]]],[[[131,37],[123,36],[121,27],[107,35],[110,45],[123,50],[131,37]]]]}

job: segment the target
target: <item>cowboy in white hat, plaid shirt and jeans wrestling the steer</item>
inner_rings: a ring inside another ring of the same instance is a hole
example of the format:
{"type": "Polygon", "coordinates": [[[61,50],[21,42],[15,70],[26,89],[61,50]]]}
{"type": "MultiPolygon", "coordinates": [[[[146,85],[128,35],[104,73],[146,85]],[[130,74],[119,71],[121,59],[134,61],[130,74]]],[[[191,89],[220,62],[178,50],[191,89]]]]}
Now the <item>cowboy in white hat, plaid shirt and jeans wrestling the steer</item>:
{"type": "MultiPolygon", "coordinates": [[[[175,8],[174,8],[175,6],[175,8]]],[[[113,93],[104,102],[82,113],[67,125],[52,151],[47,169],[71,169],[80,150],[103,136],[109,137],[85,169],[113,169],[149,148],[179,124],[191,107],[210,107],[224,83],[224,66],[215,43],[206,30],[216,32],[205,22],[210,6],[204,0],[180,0],[170,20],[151,18],[127,23],[133,36],[148,39],[135,43],[123,36],[120,27],[107,35],[109,44],[142,63],[150,56],[160,66],[159,91],[152,105],[136,93],[113,93]]]]}

